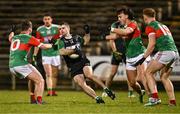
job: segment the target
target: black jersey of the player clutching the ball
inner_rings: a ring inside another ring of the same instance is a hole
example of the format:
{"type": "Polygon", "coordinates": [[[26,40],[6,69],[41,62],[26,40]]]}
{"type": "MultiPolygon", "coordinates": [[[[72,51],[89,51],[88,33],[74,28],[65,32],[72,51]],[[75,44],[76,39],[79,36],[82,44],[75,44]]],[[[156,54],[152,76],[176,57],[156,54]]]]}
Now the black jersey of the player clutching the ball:
{"type": "MultiPolygon", "coordinates": [[[[81,36],[72,35],[72,38],[70,38],[70,39],[62,37],[60,39],[59,44],[61,45],[60,48],[75,49],[75,47],[78,46],[81,49],[83,43],[84,43],[84,40],[81,36]]],[[[63,58],[67,64],[67,66],[72,68],[72,67],[75,67],[76,65],[80,64],[83,60],[85,60],[86,56],[81,51],[81,54],[79,54],[79,57],[77,57],[77,58],[72,58],[71,55],[63,55],[63,58]]]]}

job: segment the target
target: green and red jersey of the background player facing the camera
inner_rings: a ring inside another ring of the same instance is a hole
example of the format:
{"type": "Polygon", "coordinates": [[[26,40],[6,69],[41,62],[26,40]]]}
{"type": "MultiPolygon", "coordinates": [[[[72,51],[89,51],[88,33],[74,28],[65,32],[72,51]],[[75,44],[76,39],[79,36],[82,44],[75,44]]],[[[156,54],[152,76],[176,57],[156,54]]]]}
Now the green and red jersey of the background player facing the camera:
{"type": "MultiPolygon", "coordinates": [[[[40,39],[43,43],[49,43],[48,40],[59,38],[59,26],[52,24],[50,27],[40,26],[36,31],[36,38],[40,39]]],[[[58,50],[53,48],[42,50],[42,56],[57,56],[59,55],[58,50]]]]}

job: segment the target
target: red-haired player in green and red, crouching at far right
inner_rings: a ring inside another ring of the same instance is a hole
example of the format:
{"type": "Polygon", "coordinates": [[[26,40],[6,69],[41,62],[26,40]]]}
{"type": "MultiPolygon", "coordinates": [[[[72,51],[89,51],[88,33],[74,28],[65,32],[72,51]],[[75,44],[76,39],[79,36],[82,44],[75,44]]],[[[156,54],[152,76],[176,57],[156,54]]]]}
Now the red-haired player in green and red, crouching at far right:
{"type": "Polygon", "coordinates": [[[154,49],[158,51],[146,70],[146,78],[152,95],[145,106],[153,106],[161,103],[154,79],[157,71],[160,71],[161,81],[169,97],[169,105],[176,106],[174,87],[169,76],[179,54],[170,30],[166,25],[156,21],[155,16],[156,12],[154,9],[146,8],[143,10],[144,22],[147,24],[145,32],[148,35],[149,43],[144,56],[141,57],[137,64],[142,64],[154,49]]]}

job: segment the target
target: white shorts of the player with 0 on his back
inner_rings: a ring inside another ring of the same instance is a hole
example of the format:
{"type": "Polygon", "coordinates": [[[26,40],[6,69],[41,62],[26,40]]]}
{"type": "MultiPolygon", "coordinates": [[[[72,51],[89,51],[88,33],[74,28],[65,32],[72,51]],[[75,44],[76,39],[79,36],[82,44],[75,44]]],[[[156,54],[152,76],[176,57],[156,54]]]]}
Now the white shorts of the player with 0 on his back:
{"type": "Polygon", "coordinates": [[[10,72],[16,77],[23,79],[26,78],[31,72],[33,72],[33,69],[36,68],[31,64],[27,64],[23,66],[10,68],[10,72]]]}

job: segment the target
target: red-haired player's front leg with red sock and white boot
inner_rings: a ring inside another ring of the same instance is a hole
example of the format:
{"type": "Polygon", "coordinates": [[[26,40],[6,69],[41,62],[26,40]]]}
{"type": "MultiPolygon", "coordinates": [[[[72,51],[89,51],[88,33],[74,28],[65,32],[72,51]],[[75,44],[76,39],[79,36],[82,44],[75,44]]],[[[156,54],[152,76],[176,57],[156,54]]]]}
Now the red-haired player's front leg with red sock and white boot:
{"type": "Polygon", "coordinates": [[[146,79],[148,80],[147,84],[151,92],[151,98],[149,98],[149,102],[145,104],[145,106],[152,106],[161,103],[161,100],[158,96],[154,74],[163,67],[164,65],[159,63],[157,60],[152,60],[146,69],[146,79]]]}

